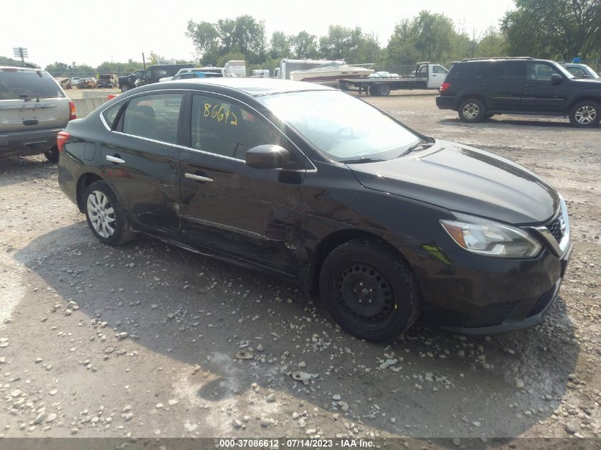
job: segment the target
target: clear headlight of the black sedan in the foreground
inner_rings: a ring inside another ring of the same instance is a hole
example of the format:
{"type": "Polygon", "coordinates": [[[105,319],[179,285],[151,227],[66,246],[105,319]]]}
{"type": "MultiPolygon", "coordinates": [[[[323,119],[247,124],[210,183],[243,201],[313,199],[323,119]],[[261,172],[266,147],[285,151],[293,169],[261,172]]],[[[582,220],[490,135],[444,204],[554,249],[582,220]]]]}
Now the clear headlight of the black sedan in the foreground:
{"type": "Polygon", "coordinates": [[[469,252],[499,258],[529,258],[538,255],[541,244],[524,230],[456,214],[457,220],[440,220],[450,237],[469,252]]]}

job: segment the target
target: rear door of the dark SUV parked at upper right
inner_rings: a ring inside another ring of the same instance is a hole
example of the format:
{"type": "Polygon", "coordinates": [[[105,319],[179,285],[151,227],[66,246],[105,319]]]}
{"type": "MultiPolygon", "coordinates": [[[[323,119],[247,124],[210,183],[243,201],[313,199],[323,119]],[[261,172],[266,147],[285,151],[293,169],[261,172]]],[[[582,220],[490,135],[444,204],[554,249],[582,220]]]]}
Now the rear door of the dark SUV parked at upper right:
{"type": "Polygon", "coordinates": [[[523,60],[499,60],[483,66],[482,92],[489,110],[521,111],[526,63],[523,60]]]}

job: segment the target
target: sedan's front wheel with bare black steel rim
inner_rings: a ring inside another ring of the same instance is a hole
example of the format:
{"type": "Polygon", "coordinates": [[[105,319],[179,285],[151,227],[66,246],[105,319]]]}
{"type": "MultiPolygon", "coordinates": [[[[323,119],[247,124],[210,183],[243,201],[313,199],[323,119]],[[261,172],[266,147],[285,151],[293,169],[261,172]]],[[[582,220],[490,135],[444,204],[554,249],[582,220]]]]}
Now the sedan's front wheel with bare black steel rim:
{"type": "Polygon", "coordinates": [[[324,260],[319,290],[344,330],[367,341],[389,341],[407,331],[421,310],[417,279],[383,242],[353,239],[324,260]],[[361,291],[359,291],[361,289],[361,291]]]}

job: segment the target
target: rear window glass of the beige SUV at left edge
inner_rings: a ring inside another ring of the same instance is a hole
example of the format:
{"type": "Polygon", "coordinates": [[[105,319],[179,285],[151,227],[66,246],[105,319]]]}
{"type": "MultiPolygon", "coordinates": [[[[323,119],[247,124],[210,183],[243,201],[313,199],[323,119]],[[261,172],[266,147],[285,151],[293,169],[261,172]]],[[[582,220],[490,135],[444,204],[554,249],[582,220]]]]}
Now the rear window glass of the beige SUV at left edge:
{"type": "Polygon", "coordinates": [[[0,100],[40,97],[65,97],[65,94],[44,70],[0,69],[0,100]]]}

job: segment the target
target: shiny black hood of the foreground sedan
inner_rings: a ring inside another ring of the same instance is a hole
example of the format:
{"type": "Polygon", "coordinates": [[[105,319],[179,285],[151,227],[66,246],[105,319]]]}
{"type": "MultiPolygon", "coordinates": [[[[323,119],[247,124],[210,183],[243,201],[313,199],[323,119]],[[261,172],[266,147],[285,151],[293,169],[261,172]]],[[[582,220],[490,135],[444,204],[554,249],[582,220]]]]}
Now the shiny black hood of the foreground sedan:
{"type": "Polygon", "coordinates": [[[560,205],[558,193],[528,169],[447,141],[402,158],[348,166],[366,188],[505,223],[545,223],[560,205]]]}

